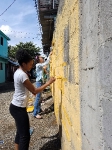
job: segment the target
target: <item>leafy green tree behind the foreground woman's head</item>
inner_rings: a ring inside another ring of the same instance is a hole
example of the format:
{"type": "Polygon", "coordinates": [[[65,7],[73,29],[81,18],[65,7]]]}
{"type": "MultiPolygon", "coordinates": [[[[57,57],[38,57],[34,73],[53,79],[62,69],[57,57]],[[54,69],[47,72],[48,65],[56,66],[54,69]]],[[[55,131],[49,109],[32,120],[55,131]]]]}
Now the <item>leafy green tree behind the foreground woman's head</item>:
{"type": "Polygon", "coordinates": [[[19,49],[26,50],[32,58],[35,58],[36,54],[40,52],[40,48],[36,47],[32,42],[20,42],[16,46],[8,46],[8,56],[15,59],[16,51],[19,49]]]}

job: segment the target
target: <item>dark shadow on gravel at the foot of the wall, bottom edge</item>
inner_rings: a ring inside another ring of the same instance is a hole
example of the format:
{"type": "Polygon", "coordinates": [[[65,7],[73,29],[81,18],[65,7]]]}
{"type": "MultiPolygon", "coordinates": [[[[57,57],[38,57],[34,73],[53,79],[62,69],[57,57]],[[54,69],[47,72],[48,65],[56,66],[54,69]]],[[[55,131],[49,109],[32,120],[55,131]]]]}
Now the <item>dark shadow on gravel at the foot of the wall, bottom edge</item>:
{"type": "Polygon", "coordinates": [[[49,142],[45,143],[43,147],[39,150],[60,150],[61,149],[61,141],[59,138],[59,134],[56,134],[51,137],[42,137],[42,138],[49,138],[52,139],[49,142]]]}

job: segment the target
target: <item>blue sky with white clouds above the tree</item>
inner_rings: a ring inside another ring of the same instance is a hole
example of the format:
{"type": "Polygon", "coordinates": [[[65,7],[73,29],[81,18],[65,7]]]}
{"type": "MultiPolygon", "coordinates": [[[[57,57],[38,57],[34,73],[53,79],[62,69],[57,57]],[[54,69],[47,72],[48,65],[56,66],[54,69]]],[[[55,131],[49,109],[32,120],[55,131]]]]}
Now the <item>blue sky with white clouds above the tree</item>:
{"type": "Polygon", "coordinates": [[[0,0],[0,30],[11,39],[8,45],[15,46],[19,42],[31,41],[36,46],[42,47],[41,26],[34,7],[35,1],[13,2],[14,0],[0,0]],[[12,3],[13,5],[8,8],[12,3]],[[7,11],[4,12],[6,9],[7,11]]]}

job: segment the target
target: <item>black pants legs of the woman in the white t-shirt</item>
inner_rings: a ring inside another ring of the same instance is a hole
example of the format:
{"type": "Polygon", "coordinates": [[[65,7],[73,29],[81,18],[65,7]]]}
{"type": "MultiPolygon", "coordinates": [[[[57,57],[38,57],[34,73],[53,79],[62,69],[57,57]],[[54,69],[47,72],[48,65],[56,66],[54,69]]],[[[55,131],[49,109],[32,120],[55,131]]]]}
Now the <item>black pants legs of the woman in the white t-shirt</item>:
{"type": "Polygon", "coordinates": [[[28,150],[30,142],[29,133],[29,117],[26,112],[26,108],[20,108],[14,105],[10,105],[10,113],[15,119],[17,133],[15,137],[15,150],[28,150]]]}

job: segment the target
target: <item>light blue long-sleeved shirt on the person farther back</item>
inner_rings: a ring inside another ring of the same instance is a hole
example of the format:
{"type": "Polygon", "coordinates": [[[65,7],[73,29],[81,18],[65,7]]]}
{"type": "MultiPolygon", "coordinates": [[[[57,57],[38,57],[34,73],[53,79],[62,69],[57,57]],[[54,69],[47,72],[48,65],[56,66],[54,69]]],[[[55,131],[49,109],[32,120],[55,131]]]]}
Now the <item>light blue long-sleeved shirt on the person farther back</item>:
{"type": "Polygon", "coordinates": [[[36,64],[36,82],[43,78],[43,67],[49,63],[49,57],[44,63],[37,63],[36,64]]]}

